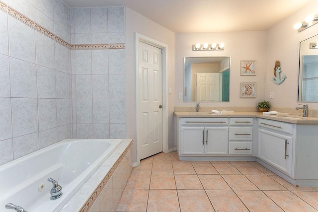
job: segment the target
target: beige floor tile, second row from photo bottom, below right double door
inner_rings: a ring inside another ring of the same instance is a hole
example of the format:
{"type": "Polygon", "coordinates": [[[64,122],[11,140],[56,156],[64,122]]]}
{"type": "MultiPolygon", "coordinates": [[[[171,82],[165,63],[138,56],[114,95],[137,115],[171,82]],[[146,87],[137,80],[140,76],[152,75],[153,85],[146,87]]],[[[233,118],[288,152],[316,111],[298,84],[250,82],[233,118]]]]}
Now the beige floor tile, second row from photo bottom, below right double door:
{"type": "Polygon", "coordinates": [[[231,190],[230,186],[225,182],[221,175],[198,175],[203,188],[210,190],[231,190]]]}

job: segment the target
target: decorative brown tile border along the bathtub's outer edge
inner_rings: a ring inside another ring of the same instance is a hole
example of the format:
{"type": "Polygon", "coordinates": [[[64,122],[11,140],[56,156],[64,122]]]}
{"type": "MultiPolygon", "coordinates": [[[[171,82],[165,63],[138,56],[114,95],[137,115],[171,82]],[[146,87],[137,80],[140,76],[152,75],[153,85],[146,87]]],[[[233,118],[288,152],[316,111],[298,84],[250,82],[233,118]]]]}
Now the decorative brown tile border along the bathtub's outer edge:
{"type": "Polygon", "coordinates": [[[85,202],[84,206],[79,210],[79,212],[88,212],[90,207],[93,205],[94,201],[100,194],[100,192],[103,190],[105,187],[106,183],[108,182],[109,178],[113,175],[115,172],[116,168],[119,166],[120,162],[122,159],[125,157],[126,153],[129,151],[131,146],[133,145],[133,142],[130,141],[129,145],[126,147],[125,151],[120,155],[118,160],[115,162],[115,164],[111,167],[107,175],[104,177],[104,179],[100,182],[98,187],[95,189],[93,194],[88,198],[88,200],[85,202]]]}

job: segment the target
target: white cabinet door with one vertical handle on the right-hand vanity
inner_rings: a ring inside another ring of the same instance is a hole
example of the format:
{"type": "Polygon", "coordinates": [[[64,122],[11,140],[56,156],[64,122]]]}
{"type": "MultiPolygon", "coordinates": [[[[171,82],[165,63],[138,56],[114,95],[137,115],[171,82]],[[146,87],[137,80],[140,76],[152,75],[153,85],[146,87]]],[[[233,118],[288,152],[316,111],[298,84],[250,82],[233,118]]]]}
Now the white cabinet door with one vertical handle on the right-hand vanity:
{"type": "Polygon", "coordinates": [[[258,157],[292,175],[293,137],[258,130],[258,157]]]}

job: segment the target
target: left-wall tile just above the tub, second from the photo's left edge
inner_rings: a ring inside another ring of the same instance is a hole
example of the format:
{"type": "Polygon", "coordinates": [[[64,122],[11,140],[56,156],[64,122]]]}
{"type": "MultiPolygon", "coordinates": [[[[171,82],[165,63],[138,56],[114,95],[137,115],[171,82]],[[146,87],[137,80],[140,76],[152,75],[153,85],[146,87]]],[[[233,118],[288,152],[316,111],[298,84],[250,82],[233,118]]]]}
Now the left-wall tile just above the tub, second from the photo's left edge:
{"type": "Polygon", "coordinates": [[[32,133],[13,138],[13,159],[39,150],[39,134],[32,133]]]}

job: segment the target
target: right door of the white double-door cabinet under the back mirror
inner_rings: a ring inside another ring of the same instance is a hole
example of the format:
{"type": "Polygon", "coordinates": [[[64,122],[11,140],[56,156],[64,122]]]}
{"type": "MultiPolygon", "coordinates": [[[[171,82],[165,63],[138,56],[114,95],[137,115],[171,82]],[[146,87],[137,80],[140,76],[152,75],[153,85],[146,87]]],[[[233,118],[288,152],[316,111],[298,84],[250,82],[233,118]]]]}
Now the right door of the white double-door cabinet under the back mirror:
{"type": "Polygon", "coordinates": [[[204,154],[228,154],[228,127],[206,127],[205,132],[204,154]]]}

